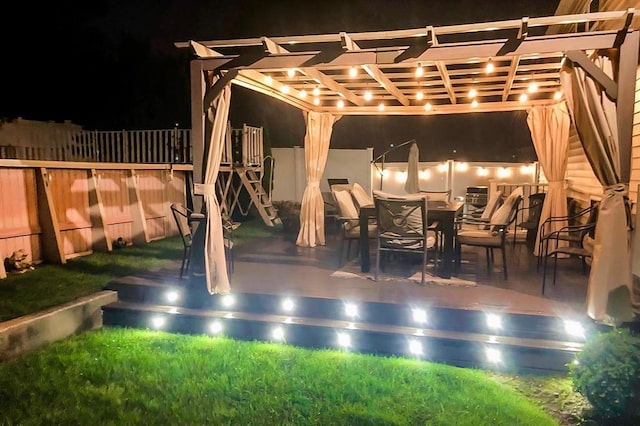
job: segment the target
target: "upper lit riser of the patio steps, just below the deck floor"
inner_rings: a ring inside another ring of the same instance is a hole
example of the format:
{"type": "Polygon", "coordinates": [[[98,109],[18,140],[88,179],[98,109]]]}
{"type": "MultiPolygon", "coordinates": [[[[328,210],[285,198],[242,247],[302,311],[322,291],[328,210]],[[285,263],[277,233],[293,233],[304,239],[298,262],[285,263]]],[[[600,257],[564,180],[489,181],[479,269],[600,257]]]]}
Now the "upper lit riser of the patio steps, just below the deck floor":
{"type": "MultiPolygon", "coordinates": [[[[187,291],[186,288],[173,287],[182,297],[174,302],[167,301],[167,292],[172,288],[150,287],[145,285],[111,283],[109,288],[118,291],[121,301],[146,303],[152,305],[174,305],[195,309],[233,310],[259,314],[285,315],[282,301],[285,296],[266,294],[234,294],[232,307],[223,305],[221,296],[210,296],[198,291],[187,291]],[[200,294],[199,294],[200,293],[200,294]],[[186,295],[186,297],[184,297],[186,295]]],[[[295,310],[290,315],[307,318],[326,318],[335,320],[351,320],[344,313],[345,302],[322,298],[295,298],[295,310]]],[[[581,342],[580,338],[568,335],[560,318],[501,314],[503,327],[488,327],[486,313],[476,310],[452,309],[444,307],[419,307],[427,312],[427,323],[417,324],[413,320],[412,307],[393,303],[358,303],[358,322],[389,324],[406,327],[425,327],[436,330],[448,330],[467,333],[498,334],[531,339],[562,340],[581,342]]]]}

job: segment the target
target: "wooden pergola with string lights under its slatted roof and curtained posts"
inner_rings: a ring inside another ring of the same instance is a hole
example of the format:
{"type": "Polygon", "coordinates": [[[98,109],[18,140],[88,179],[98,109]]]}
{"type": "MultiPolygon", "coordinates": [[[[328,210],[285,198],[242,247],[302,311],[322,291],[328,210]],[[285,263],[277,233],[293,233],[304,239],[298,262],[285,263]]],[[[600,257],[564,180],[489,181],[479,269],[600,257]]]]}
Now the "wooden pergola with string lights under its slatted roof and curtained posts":
{"type": "MultiPolygon", "coordinates": [[[[594,121],[590,116],[595,113],[581,106],[580,90],[570,83],[571,75],[574,80],[584,75],[604,94],[602,98],[614,105],[614,183],[628,185],[639,40],[632,22],[639,14],[627,9],[396,31],[176,43],[195,53],[190,68],[194,193],[203,196],[209,215],[204,244],[209,291],[229,291],[215,179],[232,84],[303,111],[307,122],[307,189],[298,244],[315,246],[324,244],[318,183],[332,125],[344,115],[527,110],[530,121],[543,121],[537,130],[529,124],[534,144],[536,139],[546,141],[553,151],[555,139],[568,138],[569,119],[560,125],[560,136],[547,134],[549,126],[559,120],[563,111],[568,117],[567,108],[583,145],[589,139],[591,131],[584,129],[594,121]],[[598,62],[602,57],[611,58],[612,70],[598,62]],[[567,70],[566,78],[561,78],[561,70],[567,70]],[[582,74],[570,73],[571,70],[582,74]],[[532,118],[532,111],[536,111],[537,118],[532,118]]],[[[596,129],[595,133],[601,132],[596,129]]],[[[536,144],[540,157],[539,149],[536,144]]],[[[611,150],[605,151],[602,156],[612,157],[607,154],[611,150]]],[[[546,170],[545,174],[549,175],[546,170]]],[[[608,181],[602,183],[607,188],[612,185],[608,181]]],[[[558,195],[548,197],[547,215],[563,211],[561,205],[565,203],[552,206],[551,199],[564,194],[564,189],[556,189],[558,195]]],[[[199,208],[202,199],[196,199],[195,204],[199,208]]],[[[605,247],[603,252],[606,250],[605,247]]],[[[594,269],[597,268],[592,268],[592,275],[594,269]]],[[[626,278],[622,284],[630,288],[626,278]]]]}

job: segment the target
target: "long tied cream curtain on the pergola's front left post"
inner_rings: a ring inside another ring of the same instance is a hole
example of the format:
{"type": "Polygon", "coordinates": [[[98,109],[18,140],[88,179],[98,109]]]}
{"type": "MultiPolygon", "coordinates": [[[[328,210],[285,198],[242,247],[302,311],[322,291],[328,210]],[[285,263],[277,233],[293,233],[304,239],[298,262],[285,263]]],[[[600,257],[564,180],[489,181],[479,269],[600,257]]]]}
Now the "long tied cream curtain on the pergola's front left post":
{"type": "Polygon", "coordinates": [[[207,120],[210,124],[211,135],[209,137],[209,150],[205,164],[204,184],[198,185],[195,191],[204,196],[207,211],[207,220],[205,222],[204,267],[207,290],[209,290],[210,294],[227,294],[231,289],[224,254],[222,214],[215,190],[226,138],[230,100],[231,84],[229,83],[222,89],[218,99],[213,102],[215,110],[212,106],[207,111],[207,120]]]}

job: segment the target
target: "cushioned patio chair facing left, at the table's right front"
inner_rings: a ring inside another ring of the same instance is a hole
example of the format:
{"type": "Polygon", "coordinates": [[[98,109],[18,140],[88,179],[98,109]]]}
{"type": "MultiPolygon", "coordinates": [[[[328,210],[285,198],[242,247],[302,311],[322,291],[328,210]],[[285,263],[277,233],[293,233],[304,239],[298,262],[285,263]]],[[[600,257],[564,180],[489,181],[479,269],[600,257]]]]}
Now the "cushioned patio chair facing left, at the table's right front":
{"type": "Polygon", "coordinates": [[[487,269],[491,270],[493,263],[493,249],[499,248],[502,251],[502,265],[504,279],[507,279],[507,255],[505,250],[506,235],[509,226],[516,218],[518,206],[522,201],[522,188],[516,188],[506,198],[504,203],[486,221],[473,219],[463,219],[455,223],[455,249],[456,249],[456,269],[459,270],[462,246],[484,247],[487,254],[487,269]]]}

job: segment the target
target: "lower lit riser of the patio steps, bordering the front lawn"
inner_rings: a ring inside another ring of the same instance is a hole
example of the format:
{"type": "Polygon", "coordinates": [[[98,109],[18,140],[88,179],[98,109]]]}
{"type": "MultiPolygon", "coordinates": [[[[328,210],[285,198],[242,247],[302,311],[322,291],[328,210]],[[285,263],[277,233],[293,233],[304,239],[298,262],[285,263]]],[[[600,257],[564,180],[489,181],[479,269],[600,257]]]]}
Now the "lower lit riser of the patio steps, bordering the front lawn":
{"type": "MultiPolygon", "coordinates": [[[[183,334],[211,334],[210,324],[214,319],[189,314],[158,314],[148,311],[119,309],[106,306],[103,322],[107,326],[155,328],[153,318],[161,315],[166,319],[162,330],[183,334]]],[[[514,345],[491,345],[475,341],[414,336],[370,330],[336,329],[331,326],[283,324],[240,318],[217,318],[223,325],[223,334],[240,340],[274,341],[272,332],[282,327],[285,343],[313,348],[338,349],[338,332],[348,333],[351,338],[349,351],[385,356],[415,357],[408,351],[410,340],[421,343],[424,352],[421,359],[441,362],[459,367],[478,367],[519,372],[566,372],[566,364],[574,353],[562,350],[528,348],[514,345]],[[487,361],[486,348],[501,352],[503,362],[487,361]]]]}

